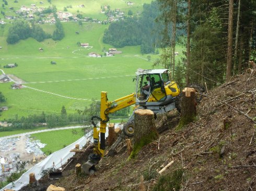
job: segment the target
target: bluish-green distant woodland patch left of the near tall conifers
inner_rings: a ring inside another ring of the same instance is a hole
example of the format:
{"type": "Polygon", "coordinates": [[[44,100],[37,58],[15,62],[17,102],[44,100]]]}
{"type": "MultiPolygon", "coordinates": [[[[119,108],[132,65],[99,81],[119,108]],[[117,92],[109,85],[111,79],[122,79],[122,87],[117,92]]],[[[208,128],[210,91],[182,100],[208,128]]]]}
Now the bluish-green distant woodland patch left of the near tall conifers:
{"type": "MultiPolygon", "coordinates": [[[[141,45],[141,53],[155,52],[159,41],[161,23],[155,19],[159,15],[159,7],[156,2],[143,5],[141,17],[129,17],[123,21],[111,23],[109,29],[104,32],[103,42],[114,47],[141,45]]],[[[132,14],[129,10],[128,14],[132,14]]]]}

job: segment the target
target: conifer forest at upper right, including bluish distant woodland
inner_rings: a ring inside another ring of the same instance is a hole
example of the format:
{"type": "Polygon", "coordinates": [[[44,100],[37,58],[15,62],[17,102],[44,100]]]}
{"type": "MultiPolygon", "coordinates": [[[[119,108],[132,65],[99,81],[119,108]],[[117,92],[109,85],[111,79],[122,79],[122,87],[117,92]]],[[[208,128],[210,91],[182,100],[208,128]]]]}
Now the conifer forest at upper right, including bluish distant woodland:
{"type": "Polygon", "coordinates": [[[103,42],[123,47],[141,45],[141,53],[162,50],[154,65],[170,68],[179,84],[228,81],[255,59],[254,0],[158,0],[144,4],[142,14],[111,23],[103,42]],[[175,47],[187,47],[175,62],[175,47]]]}

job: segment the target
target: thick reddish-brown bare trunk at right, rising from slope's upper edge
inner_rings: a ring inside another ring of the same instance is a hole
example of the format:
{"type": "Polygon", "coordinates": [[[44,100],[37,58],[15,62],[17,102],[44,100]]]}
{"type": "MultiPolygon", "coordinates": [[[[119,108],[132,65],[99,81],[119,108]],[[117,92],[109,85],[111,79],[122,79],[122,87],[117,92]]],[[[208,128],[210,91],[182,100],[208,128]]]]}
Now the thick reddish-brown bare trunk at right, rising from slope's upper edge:
{"type": "Polygon", "coordinates": [[[227,73],[226,73],[226,82],[231,78],[232,71],[232,44],[233,44],[233,9],[234,9],[234,0],[229,0],[229,9],[228,9],[228,52],[227,52],[227,73]]]}

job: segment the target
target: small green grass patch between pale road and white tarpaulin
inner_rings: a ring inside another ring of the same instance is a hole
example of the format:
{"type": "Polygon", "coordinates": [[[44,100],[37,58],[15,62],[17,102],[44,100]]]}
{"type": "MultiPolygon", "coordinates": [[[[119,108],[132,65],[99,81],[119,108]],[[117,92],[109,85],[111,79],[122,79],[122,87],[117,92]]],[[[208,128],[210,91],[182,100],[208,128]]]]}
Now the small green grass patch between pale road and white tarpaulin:
{"type": "Polygon", "coordinates": [[[68,129],[58,130],[43,133],[36,133],[31,135],[34,139],[40,139],[41,143],[47,144],[41,150],[46,154],[50,155],[52,152],[60,150],[84,136],[84,129],[68,129]]]}

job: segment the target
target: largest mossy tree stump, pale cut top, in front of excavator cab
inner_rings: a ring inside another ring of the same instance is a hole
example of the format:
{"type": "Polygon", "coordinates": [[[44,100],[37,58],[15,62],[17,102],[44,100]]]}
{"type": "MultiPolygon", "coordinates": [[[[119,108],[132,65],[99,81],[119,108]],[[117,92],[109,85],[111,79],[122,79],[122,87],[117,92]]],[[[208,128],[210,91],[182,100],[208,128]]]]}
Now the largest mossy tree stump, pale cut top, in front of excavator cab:
{"type": "Polygon", "coordinates": [[[134,114],[134,148],[131,158],[135,157],[144,145],[158,138],[154,112],[149,109],[137,109],[134,114]]]}

